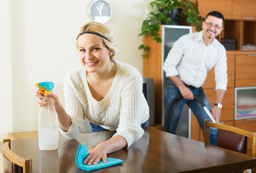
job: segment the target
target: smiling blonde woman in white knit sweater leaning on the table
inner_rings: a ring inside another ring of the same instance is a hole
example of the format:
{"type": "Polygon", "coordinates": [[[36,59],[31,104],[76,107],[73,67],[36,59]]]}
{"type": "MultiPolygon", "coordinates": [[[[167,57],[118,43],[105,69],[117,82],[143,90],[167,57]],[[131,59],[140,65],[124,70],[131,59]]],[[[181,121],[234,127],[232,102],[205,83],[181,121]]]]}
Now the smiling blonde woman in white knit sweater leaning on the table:
{"type": "MultiPolygon", "coordinates": [[[[98,22],[83,25],[77,35],[82,67],[69,71],[64,81],[65,109],[54,100],[63,136],[76,138],[90,121],[93,131],[116,130],[109,140],[89,150],[84,164],[106,162],[106,154],[129,147],[142,137],[141,125],[149,117],[142,93],[142,76],[133,66],[114,60],[116,43],[108,28],[98,22]]],[[[39,90],[39,88],[38,88],[39,90]]],[[[45,104],[39,92],[38,106],[45,104]]]]}

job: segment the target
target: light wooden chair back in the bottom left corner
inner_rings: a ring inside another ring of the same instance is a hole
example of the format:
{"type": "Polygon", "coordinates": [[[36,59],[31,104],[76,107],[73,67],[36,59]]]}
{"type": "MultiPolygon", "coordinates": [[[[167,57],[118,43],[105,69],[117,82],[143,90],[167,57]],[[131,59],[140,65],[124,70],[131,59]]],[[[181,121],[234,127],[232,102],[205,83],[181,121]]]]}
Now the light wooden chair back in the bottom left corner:
{"type": "Polygon", "coordinates": [[[3,139],[4,172],[30,173],[32,159],[27,159],[11,151],[11,140],[3,139]]]}

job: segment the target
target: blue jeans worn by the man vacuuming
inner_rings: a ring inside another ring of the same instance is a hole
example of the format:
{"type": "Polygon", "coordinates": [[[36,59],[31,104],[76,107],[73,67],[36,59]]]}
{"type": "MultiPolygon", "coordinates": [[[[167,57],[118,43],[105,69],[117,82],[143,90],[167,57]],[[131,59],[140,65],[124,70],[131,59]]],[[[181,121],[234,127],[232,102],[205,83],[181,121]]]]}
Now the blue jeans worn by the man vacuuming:
{"type": "MultiPolygon", "coordinates": [[[[191,88],[189,88],[189,89],[210,110],[210,103],[208,102],[208,99],[206,98],[202,87],[196,88],[196,89],[191,89],[191,88]]],[[[179,91],[179,88],[173,82],[171,82],[171,79],[168,79],[166,95],[165,95],[166,110],[167,110],[168,105],[171,102],[171,100],[180,94],[181,94],[181,92],[179,91]]],[[[184,104],[187,104],[189,106],[189,108],[192,110],[195,117],[197,117],[197,121],[198,121],[200,127],[202,128],[202,132],[205,133],[205,119],[210,120],[210,117],[208,117],[205,110],[202,108],[202,105],[200,105],[200,103],[197,102],[195,99],[189,100],[189,99],[184,99],[184,98],[180,99],[178,102],[174,102],[174,104],[172,105],[171,113],[168,114],[168,116],[170,116],[170,117],[168,117],[169,122],[166,123],[167,124],[167,127],[166,127],[167,132],[168,133],[176,132],[177,124],[179,122],[179,117],[182,113],[182,108],[184,107],[184,104]]],[[[218,132],[218,130],[216,128],[210,128],[210,144],[215,145],[215,146],[216,146],[216,141],[217,141],[217,132],[218,132]]]]}

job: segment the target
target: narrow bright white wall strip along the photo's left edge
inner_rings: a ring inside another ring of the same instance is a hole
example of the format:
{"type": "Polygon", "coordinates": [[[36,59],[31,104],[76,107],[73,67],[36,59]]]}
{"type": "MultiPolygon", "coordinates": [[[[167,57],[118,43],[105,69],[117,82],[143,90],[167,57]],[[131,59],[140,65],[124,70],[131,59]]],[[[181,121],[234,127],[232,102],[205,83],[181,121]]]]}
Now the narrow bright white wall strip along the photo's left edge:
{"type": "Polygon", "coordinates": [[[0,136],[12,132],[10,3],[0,0],[0,136]]]}

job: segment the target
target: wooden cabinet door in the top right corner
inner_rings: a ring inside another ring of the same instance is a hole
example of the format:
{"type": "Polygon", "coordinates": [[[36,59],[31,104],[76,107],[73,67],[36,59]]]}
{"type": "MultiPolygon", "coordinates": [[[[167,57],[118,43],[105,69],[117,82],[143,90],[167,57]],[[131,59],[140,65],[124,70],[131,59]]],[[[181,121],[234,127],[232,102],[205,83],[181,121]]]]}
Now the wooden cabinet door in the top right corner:
{"type": "Polygon", "coordinates": [[[255,0],[233,0],[233,19],[256,19],[255,0]]]}

